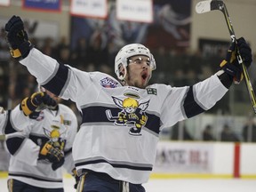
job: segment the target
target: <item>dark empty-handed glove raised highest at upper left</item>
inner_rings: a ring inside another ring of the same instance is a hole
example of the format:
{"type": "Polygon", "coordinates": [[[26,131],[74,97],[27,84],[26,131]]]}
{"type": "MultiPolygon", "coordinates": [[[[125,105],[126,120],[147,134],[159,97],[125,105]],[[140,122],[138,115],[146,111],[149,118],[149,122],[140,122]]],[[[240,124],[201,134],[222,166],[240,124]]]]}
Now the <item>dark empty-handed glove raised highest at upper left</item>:
{"type": "Polygon", "coordinates": [[[26,58],[34,45],[28,41],[28,34],[20,17],[13,15],[5,24],[5,31],[12,57],[16,59],[26,58]]]}

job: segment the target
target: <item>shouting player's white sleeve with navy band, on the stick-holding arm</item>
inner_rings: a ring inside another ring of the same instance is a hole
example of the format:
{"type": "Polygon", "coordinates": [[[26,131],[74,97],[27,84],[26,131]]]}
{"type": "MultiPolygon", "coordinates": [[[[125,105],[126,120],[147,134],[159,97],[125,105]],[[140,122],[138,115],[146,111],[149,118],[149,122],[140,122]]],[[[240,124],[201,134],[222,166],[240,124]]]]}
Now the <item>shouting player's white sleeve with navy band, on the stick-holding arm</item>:
{"type": "Polygon", "coordinates": [[[193,86],[169,86],[161,112],[162,129],[212,108],[226,92],[228,89],[216,75],[193,86]]]}

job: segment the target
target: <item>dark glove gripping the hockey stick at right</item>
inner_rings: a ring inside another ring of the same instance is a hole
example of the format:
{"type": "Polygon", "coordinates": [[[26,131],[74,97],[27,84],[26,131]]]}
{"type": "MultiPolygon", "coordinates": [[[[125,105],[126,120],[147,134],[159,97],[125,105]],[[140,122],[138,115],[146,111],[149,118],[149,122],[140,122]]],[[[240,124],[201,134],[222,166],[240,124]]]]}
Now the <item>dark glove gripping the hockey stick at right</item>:
{"type": "Polygon", "coordinates": [[[249,68],[252,63],[252,50],[245,42],[244,37],[237,39],[236,42],[232,42],[228,49],[226,59],[220,63],[220,68],[223,69],[228,76],[231,76],[236,84],[239,84],[243,80],[243,68],[237,60],[237,49],[239,50],[242,60],[246,68],[249,68]]]}

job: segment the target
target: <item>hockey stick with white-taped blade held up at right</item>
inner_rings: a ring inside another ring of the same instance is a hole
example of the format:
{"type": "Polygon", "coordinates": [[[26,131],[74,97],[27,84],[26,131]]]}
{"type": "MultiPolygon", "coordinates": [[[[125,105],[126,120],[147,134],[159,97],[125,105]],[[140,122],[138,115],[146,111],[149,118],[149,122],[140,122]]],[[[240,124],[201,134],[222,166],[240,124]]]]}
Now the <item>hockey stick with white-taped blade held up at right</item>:
{"type": "MultiPolygon", "coordinates": [[[[206,0],[206,1],[201,1],[196,4],[196,12],[197,13],[204,13],[204,12],[211,12],[213,10],[219,10],[224,14],[226,23],[228,25],[228,31],[231,37],[232,42],[236,42],[236,36],[235,36],[235,31],[232,25],[232,22],[230,20],[230,17],[228,15],[228,9],[226,7],[226,4],[222,0],[206,0]]],[[[244,65],[244,61],[242,60],[241,54],[239,50],[237,50],[237,57],[236,59],[238,60],[239,64],[243,68],[243,74],[244,74],[244,81],[247,87],[247,91],[249,92],[250,100],[252,102],[252,108],[254,110],[254,113],[256,114],[256,98],[255,98],[255,93],[252,89],[252,83],[250,76],[248,74],[247,68],[244,65]]]]}

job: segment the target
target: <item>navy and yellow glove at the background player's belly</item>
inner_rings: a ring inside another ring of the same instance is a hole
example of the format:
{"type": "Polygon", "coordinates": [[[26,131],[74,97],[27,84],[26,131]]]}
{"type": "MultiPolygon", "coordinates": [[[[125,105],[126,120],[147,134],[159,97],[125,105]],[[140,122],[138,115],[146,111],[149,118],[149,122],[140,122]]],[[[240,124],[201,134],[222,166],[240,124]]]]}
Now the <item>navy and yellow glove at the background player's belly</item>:
{"type": "Polygon", "coordinates": [[[52,163],[52,170],[57,170],[64,164],[64,152],[60,148],[54,148],[51,141],[46,142],[40,148],[39,159],[47,159],[52,163]]]}

